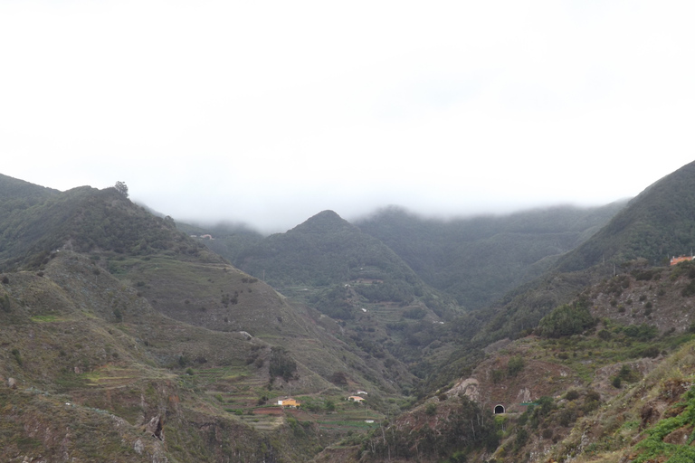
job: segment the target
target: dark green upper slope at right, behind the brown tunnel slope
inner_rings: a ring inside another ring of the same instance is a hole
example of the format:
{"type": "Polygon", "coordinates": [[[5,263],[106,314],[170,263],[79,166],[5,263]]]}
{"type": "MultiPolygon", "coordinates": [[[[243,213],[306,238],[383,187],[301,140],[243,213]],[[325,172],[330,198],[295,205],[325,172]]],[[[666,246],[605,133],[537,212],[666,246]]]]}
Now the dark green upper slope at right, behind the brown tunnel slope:
{"type": "Polygon", "coordinates": [[[694,163],[663,177],[544,275],[509,291],[492,308],[495,315],[477,335],[477,345],[523,335],[551,309],[616,272],[662,265],[669,254],[690,253],[690,240],[695,241],[694,178],[694,163]]]}

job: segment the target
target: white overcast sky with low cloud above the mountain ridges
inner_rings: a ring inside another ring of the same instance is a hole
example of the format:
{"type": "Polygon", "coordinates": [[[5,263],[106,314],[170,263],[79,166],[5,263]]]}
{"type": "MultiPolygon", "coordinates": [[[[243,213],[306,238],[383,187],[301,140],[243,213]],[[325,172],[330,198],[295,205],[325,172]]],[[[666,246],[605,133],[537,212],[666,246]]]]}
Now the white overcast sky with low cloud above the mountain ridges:
{"type": "Polygon", "coordinates": [[[603,204],[693,160],[695,2],[0,0],[0,173],[176,220],[603,204]]]}

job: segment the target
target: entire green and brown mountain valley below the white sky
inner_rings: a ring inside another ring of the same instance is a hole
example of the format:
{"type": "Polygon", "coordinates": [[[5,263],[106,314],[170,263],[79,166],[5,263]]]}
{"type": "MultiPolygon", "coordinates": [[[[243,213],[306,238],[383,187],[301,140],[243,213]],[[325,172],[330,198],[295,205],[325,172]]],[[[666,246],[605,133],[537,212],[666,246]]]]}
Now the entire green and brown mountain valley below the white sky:
{"type": "Polygon", "coordinates": [[[264,237],[0,176],[0,458],[692,461],[693,198],[264,237]]]}

